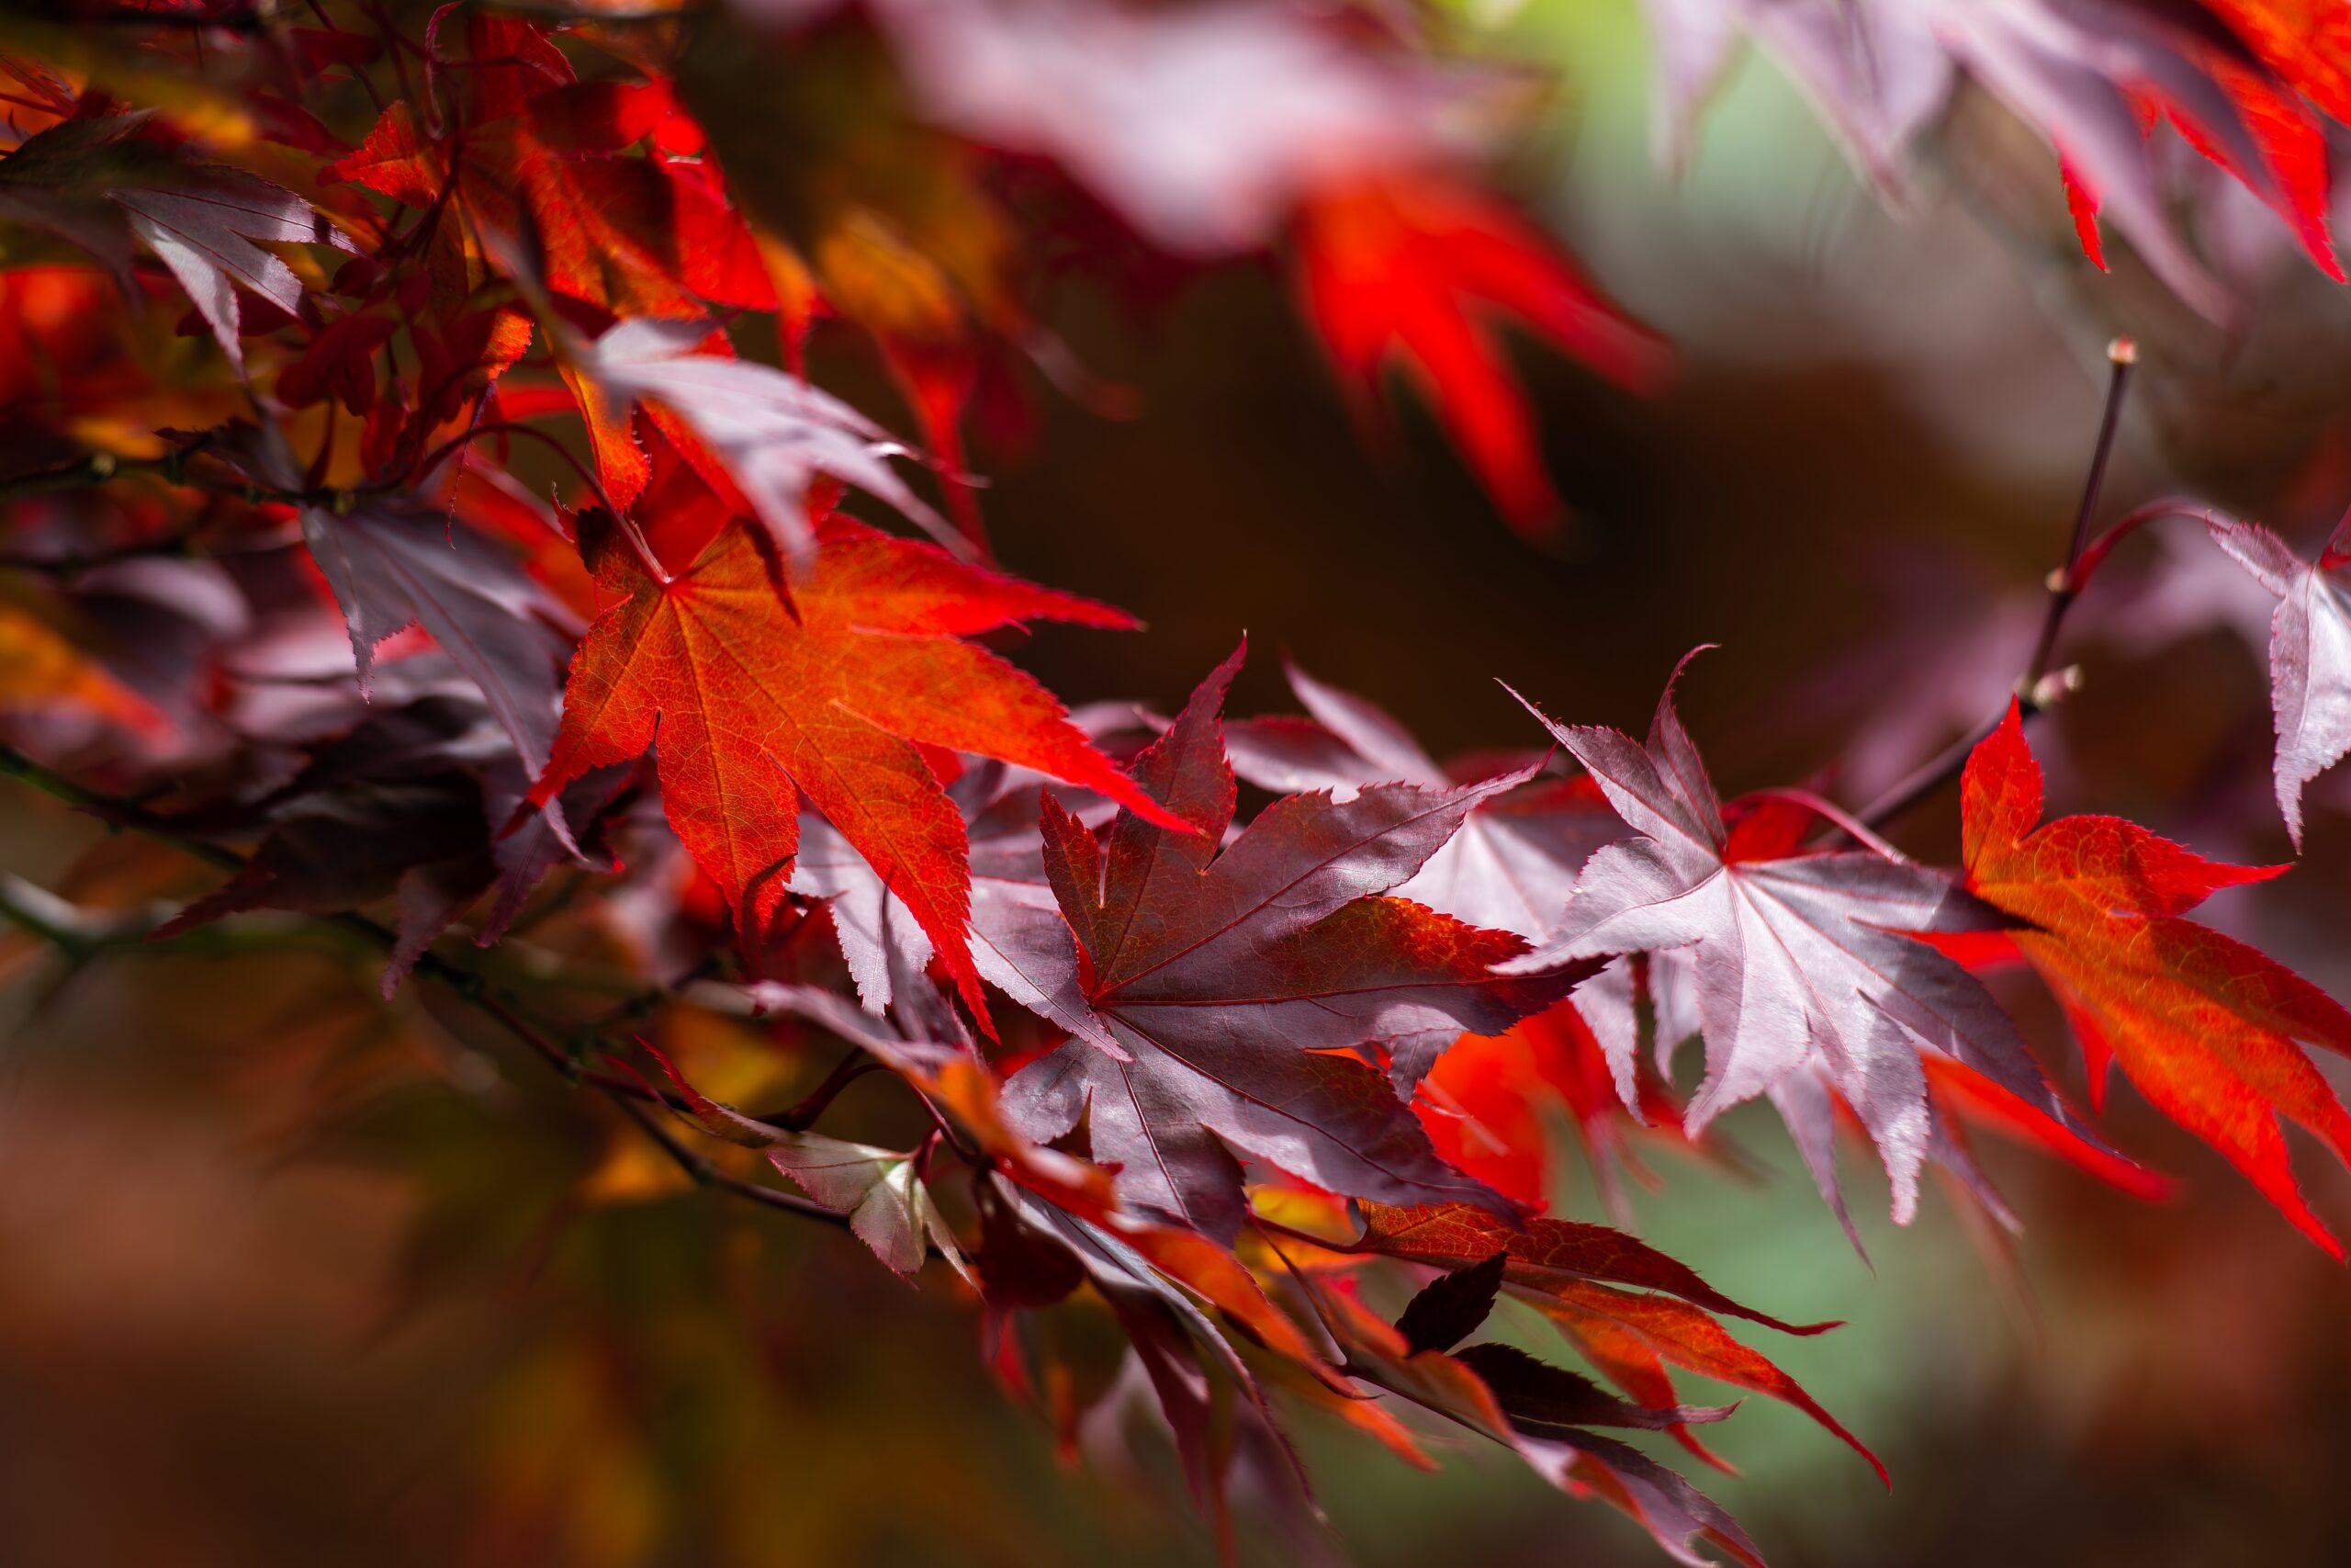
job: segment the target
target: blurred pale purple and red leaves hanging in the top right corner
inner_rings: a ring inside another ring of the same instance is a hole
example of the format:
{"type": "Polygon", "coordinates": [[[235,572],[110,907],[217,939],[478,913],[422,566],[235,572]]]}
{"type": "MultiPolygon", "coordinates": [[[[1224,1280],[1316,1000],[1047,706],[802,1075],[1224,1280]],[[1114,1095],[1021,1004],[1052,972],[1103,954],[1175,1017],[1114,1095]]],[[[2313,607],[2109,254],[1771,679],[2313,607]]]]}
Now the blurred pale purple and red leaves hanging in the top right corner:
{"type": "Polygon", "coordinates": [[[2104,221],[2212,320],[2241,315],[2217,254],[2248,249],[2248,235],[2288,240],[2344,280],[2330,122],[2351,118],[2351,31],[2332,0],[1641,5],[1667,148],[1686,141],[1733,45],[1751,38],[1813,99],[1855,169],[1895,200],[1916,190],[1921,155],[1972,87],[2050,146],[2081,249],[2099,268],[2104,221]],[[2217,172],[2250,202],[2217,190],[2208,179],[2217,172]]]}

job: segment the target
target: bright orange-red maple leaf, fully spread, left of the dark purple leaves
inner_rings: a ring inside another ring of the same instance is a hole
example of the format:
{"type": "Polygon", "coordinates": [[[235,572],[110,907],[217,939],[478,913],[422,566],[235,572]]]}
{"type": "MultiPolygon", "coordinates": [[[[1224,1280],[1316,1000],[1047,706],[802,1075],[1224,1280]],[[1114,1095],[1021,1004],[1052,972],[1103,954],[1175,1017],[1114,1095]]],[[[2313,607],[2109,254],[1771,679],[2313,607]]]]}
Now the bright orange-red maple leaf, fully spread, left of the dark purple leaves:
{"type": "Polygon", "coordinates": [[[966,945],[964,818],[917,745],[1032,766],[1173,820],[1044,686],[964,642],[1030,618],[1133,625],[1121,611],[830,520],[795,583],[795,621],[741,527],[670,581],[602,512],[583,517],[583,536],[618,604],[571,663],[562,731],[529,799],[637,757],[658,731],[670,825],[726,891],[745,947],[783,898],[806,795],[915,912],[985,1023],[966,945]]]}

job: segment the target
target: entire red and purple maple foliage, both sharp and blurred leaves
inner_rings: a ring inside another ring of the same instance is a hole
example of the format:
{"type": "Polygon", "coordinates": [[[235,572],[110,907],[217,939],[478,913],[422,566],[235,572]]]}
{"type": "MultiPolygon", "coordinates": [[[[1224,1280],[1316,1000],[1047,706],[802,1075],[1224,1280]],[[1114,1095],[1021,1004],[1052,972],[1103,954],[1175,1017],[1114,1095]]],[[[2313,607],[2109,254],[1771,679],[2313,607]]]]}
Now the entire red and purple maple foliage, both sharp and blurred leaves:
{"type": "MultiPolygon", "coordinates": [[[[1676,106],[1754,31],[1886,179],[1951,75],[1982,80],[2048,127],[2092,254],[2104,209],[2191,301],[2217,284],[2165,228],[2163,120],[2335,266],[2313,193],[2342,80],[2276,7],[1653,9],[1676,106]]],[[[1542,1124],[1566,1107],[1613,1182],[1639,1128],[1709,1150],[1716,1114],[1768,1098],[1841,1215],[1841,1121],[1897,1220],[1933,1168],[2015,1225],[1975,1128],[2161,1192],[2027,1048],[1977,976],[2001,961],[2048,983],[2092,1088],[2118,1060],[2339,1253],[2278,1119],[2351,1159],[2304,1056],[2351,1053],[2351,1013],[2186,919],[2276,867],[2038,823],[2022,722],[2114,536],[2076,538],[2020,703],[1963,757],[1956,870],[1876,837],[1918,792],[1723,802],[1672,696],[1646,743],[1535,715],[1554,750],[1448,766],[1302,672],[1307,717],[1227,726],[1241,654],[1157,722],[1065,712],[983,646],[1133,625],[990,564],[966,473],[966,423],[1025,395],[1025,362],[1086,390],[1044,324],[1070,270],[1145,306],[1272,259],[1352,395],[1375,407],[1401,369],[1507,520],[1556,512],[1495,317],[1632,388],[1662,350],[1479,186],[1509,82],[1455,42],[1288,0],[0,24],[12,771],[226,872],[155,936],[327,917],[383,950],[388,994],[451,990],[623,1133],[973,1300],[990,1363],[1065,1434],[1147,1392],[1218,1519],[1312,1509],[1284,1403],[1427,1462],[1404,1410],[1681,1561],[1759,1561],[1603,1432],[1714,1462],[1693,1427],[1728,1410],[1683,1403],[1683,1371],[1867,1458],[1723,1319],[1824,1326],[1547,1215],[1542,1124]],[[806,378],[825,322],[919,442],[806,378]],[[552,501],[531,461],[562,463],[552,501]],[[931,538],[851,520],[851,491],[931,538]],[[1246,825],[1241,780],[1274,797],[1246,825]],[[567,929],[635,990],[578,1018],[444,943],[461,926],[482,947],[567,929]],[[696,1009],[851,1058],[745,1114],[630,1041],[696,1009]],[[813,1131],[868,1070],[922,1107],[915,1147],[813,1131]],[[1401,1316],[1378,1312],[1399,1286],[1401,1316]],[[1615,1392],[1465,1345],[1505,1293],[1615,1392]],[[1089,1316],[1124,1373],[1067,1333],[1089,1316]]],[[[2280,597],[2299,842],[2302,788],[2351,750],[2346,550],[2212,531],[2280,597]]],[[[7,912],[87,947],[47,905],[7,912]]]]}

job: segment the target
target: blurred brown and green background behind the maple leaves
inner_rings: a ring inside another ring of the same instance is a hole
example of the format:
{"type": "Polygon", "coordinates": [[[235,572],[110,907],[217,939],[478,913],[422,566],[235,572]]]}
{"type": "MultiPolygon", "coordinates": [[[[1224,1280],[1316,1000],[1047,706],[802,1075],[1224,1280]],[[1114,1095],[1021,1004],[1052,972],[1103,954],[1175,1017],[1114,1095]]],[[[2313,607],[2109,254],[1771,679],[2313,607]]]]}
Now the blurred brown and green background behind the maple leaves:
{"type": "MultiPolygon", "coordinates": [[[[2313,545],[2351,503],[2351,301],[2283,247],[2241,259],[2250,306],[2219,329],[2128,254],[2092,273],[2048,153],[1982,103],[1916,209],[1888,214],[1763,61],[1669,169],[1629,0],[1545,0],[1502,38],[1563,68],[1512,186],[1676,343],[1672,386],[1636,400],[1519,355],[1575,512],[1540,552],[1411,397],[1392,440],[1361,440],[1274,268],[1140,317],[1072,296],[1060,331],[1140,416],[1046,393],[1018,449],[976,454],[1013,571],[1150,623],[1039,632],[1023,663],[1067,701],[1171,708],[1246,630],[1234,712],[1288,708],[1288,654],[1448,755],[1535,741],[1498,677],[1639,729],[1674,661],[1714,642],[1681,701],[1723,790],[1820,778],[1860,802],[2022,668],[2111,336],[2142,369],[2106,515],[2189,491],[2313,545]]],[[[818,378],[891,409],[853,355],[818,378]]],[[[2036,738],[2052,813],[2283,860],[2266,607],[2193,527],[2118,559],[2062,651],[2083,691],[2036,738]]],[[[2205,914],[2337,997],[2344,804],[2323,780],[2304,863],[2205,914]]],[[[5,865],[42,886],[136,896],[162,875],[40,797],[7,806],[5,865]]],[[[1954,830],[1935,802],[1902,842],[1949,860],[1954,830]]],[[[414,987],[386,1013],[360,954],[268,922],[82,971],[7,940],[12,1561],[1213,1561],[1173,1465],[1150,1443],[1133,1474],[1063,1462],[945,1291],[844,1234],[677,1192],[600,1110],[503,1077],[468,1018],[414,987]]],[[[1886,1458],[1893,1493],[1766,1401],[1719,1429],[1742,1474],[1697,1476],[1773,1563],[2351,1561],[2351,1281],[2128,1086],[2109,1133],[2184,1199],[1989,1150],[2029,1227],[2012,1276],[1933,1197],[1886,1225],[1871,1161],[1848,1157],[1867,1267],[1759,1110],[1728,1124],[1754,1180],[1662,1152],[1634,1208],[1733,1295],[1850,1324],[1768,1349],[1886,1458]]],[[[849,1112],[844,1135],[879,1133],[849,1112]]],[[[2351,1182],[2297,1152],[2320,1215],[2351,1225],[2351,1182]]],[[[1587,1168],[1559,1168],[1554,1211],[1603,1218],[1587,1168]]],[[[1305,1418],[1298,1436],[1373,1568],[1660,1561],[1502,1453],[1462,1443],[1422,1476],[1305,1418]]]]}

